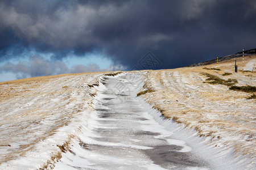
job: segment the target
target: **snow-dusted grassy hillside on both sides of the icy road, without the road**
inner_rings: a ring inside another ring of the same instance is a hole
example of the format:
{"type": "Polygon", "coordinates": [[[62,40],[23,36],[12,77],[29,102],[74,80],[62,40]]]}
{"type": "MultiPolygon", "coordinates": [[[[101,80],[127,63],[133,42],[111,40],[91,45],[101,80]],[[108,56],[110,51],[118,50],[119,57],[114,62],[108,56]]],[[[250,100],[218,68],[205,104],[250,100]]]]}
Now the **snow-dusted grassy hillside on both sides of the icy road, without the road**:
{"type": "MultiPolygon", "coordinates": [[[[194,129],[195,138],[207,142],[202,145],[208,149],[220,148],[224,157],[233,152],[234,165],[250,169],[255,167],[256,154],[255,64],[256,56],[248,55],[244,72],[242,58],[237,57],[220,61],[218,68],[212,63],[130,73],[143,75],[145,84],[142,89],[137,86],[138,95],[159,114],[177,122],[181,130],[194,129]],[[249,86],[249,92],[237,88],[249,86]]],[[[116,75],[66,74],[0,83],[0,168],[54,168],[88,130],[93,101],[100,95],[99,79],[116,75]]]]}

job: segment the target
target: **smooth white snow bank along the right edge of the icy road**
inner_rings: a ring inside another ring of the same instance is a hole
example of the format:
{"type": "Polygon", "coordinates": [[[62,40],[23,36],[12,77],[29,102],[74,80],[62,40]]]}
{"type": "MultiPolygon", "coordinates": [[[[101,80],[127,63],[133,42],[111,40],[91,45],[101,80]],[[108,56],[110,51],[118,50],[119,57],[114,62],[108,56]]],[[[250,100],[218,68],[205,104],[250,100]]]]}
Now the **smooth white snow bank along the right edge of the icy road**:
{"type": "MultiPolygon", "coordinates": [[[[148,108],[148,113],[154,117],[154,120],[162,126],[155,130],[166,133],[165,137],[171,145],[183,147],[180,152],[192,152],[202,160],[210,164],[210,169],[252,169],[254,165],[250,159],[244,155],[236,156],[232,147],[219,146],[214,147],[209,138],[199,137],[198,132],[193,129],[187,129],[183,124],[177,124],[162,116],[156,109],[152,109],[148,103],[141,101],[144,108],[148,108]],[[171,132],[171,133],[170,133],[171,132]]],[[[161,138],[161,137],[159,137],[161,138]]]]}

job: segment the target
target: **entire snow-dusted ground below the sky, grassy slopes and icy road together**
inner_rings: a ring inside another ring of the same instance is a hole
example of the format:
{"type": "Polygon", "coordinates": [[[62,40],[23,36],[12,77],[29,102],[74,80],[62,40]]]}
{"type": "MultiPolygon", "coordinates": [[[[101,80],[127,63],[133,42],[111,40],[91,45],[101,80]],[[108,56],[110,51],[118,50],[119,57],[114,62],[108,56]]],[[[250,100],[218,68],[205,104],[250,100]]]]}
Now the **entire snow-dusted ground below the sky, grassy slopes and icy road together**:
{"type": "MultiPolygon", "coordinates": [[[[241,70],[242,59],[236,59],[241,70]]],[[[207,77],[200,74],[256,86],[251,71],[255,56],[245,57],[248,72],[235,74],[233,65],[231,59],[219,63],[220,71],[203,66],[135,71],[145,86],[133,82],[129,73],[0,83],[0,169],[100,169],[106,162],[105,169],[253,169],[255,99],[224,85],[203,83],[207,77]],[[153,91],[136,97],[142,86],[142,91],[153,91]],[[175,122],[163,120],[151,107],[175,122]]]]}

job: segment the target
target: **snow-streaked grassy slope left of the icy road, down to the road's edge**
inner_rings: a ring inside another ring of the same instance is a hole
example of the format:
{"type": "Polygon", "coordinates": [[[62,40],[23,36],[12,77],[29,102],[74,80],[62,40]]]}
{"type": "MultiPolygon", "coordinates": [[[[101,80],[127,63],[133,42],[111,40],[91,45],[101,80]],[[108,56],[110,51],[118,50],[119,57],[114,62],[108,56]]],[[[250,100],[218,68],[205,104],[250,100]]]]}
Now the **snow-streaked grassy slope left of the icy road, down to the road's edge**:
{"type": "Polygon", "coordinates": [[[59,147],[67,145],[88,120],[96,90],[87,84],[97,82],[98,75],[2,84],[0,169],[38,169],[58,159],[59,147]]]}

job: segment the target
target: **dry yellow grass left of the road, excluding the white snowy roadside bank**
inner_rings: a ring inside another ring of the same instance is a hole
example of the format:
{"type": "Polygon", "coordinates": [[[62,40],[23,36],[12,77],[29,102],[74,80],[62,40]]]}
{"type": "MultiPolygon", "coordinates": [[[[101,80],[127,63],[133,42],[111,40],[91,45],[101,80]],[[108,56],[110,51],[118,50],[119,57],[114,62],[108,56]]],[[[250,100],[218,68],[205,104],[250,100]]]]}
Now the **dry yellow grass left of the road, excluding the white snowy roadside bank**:
{"type": "Polygon", "coordinates": [[[94,84],[100,75],[63,74],[2,82],[0,147],[6,152],[0,154],[0,164],[26,156],[76,121],[92,103],[89,94],[96,92],[86,84],[94,84]]]}

